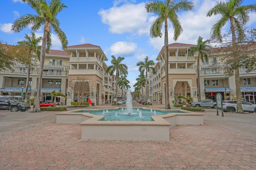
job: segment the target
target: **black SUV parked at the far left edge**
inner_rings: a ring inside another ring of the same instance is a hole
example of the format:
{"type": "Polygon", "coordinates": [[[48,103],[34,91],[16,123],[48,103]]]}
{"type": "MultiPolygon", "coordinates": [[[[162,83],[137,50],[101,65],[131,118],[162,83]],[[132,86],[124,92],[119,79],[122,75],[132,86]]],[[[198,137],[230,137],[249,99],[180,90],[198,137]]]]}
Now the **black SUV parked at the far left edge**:
{"type": "Polygon", "coordinates": [[[11,98],[0,98],[0,110],[27,111],[30,109],[30,103],[20,102],[11,98]]]}

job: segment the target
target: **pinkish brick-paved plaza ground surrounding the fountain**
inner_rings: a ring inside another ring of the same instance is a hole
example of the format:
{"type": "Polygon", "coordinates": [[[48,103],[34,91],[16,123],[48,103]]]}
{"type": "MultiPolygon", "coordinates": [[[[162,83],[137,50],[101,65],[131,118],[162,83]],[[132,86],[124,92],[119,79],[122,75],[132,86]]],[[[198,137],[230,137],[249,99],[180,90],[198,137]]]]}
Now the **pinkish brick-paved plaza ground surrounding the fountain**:
{"type": "MultiPolygon", "coordinates": [[[[93,108],[100,107],[114,106],[93,108]]],[[[56,112],[31,111],[0,111],[1,170],[256,169],[256,113],[222,117],[206,109],[204,125],[171,127],[170,142],[159,142],[82,141],[81,125],[56,124],[56,112]]]]}

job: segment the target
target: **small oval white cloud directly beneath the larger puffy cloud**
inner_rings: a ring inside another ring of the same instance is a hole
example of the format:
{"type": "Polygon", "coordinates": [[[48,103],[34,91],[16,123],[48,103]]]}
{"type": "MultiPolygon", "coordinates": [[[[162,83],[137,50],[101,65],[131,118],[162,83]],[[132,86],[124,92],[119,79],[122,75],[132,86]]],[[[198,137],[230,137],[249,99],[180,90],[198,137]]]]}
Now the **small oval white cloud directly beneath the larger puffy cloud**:
{"type": "Polygon", "coordinates": [[[118,56],[132,56],[137,49],[136,43],[129,43],[125,41],[116,42],[111,45],[110,51],[111,55],[118,55],[118,56]]]}

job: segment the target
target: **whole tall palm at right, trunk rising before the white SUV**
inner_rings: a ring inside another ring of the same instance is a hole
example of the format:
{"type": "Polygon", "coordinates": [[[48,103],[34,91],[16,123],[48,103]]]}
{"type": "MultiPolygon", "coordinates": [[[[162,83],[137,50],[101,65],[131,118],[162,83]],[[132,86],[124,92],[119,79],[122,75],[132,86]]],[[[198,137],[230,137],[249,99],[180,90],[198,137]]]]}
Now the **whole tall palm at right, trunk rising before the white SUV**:
{"type": "MultiPolygon", "coordinates": [[[[206,16],[221,15],[212,27],[212,37],[222,40],[221,29],[226,25],[228,20],[230,21],[230,29],[232,33],[232,55],[234,57],[234,64],[239,62],[239,57],[236,55],[238,51],[237,39],[242,40],[244,37],[243,25],[249,20],[249,12],[256,12],[256,4],[250,4],[241,6],[243,0],[230,0],[229,2],[217,2],[215,6],[210,9],[206,16]],[[237,35],[237,37],[236,37],[237,35]]],[[[240,75],[239,67],[235,68],[235,80],[236,80],[236,98],[237,98],[237,113],[243,113],[242,101],[241,101],[241,89],[240,89],[240,75]]]]}

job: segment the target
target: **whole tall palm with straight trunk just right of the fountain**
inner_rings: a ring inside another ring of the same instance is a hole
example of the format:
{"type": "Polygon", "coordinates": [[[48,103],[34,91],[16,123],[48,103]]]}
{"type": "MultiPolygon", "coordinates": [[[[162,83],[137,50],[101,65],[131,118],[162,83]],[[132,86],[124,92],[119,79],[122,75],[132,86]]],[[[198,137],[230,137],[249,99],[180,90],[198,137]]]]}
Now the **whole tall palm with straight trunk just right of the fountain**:
{"type": "Polygon", "coordinates": [[[158,18],[150,27],[150,37],[162,37],[162,25],[164,24],[164,63],[165,63],[165,109],[170,109],[169,100],[169,75],[168,75],[168,20],[172,23],[174,29],[174,41],[178,39],[182,33],[182,27],[178,20],[177,12],[190,11],[194,8],[194,3],[187,0],[152,0],[145,4],[147,12],[152,12],[158,15],[158,18]]]}

